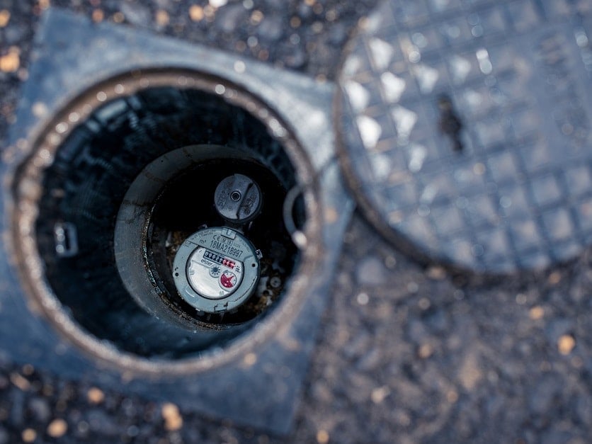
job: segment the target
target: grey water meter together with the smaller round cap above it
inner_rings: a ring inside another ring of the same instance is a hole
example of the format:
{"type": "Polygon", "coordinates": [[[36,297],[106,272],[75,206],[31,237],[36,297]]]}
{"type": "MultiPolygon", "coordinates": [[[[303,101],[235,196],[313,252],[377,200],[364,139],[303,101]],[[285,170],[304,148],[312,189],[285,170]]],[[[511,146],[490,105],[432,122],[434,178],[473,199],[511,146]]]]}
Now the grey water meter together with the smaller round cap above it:
{"type": "Polygon", "coordinates": [[[173,280],[183,300],[199,312],[222,313],[253,295],[261,251],[243,234],[261,210],[261,190],[251,178],[234,174],[215,190],[215,207],[230,226],[205,227],[179,247],[173,280]]]}

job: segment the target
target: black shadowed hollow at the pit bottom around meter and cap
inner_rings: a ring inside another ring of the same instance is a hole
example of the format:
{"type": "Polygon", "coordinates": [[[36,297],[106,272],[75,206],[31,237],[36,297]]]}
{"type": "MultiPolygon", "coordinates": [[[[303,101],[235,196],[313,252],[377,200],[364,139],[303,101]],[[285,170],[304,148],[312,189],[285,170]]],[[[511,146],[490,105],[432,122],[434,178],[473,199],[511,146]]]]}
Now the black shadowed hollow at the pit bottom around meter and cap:
{"type": "Polygon", "coordinates": [[[278,178],[257,161],[214,159],[195,164],[177,176],[156,200],[148,229],[147,251],[152,273],[164,290],[166,304],[176,311],[195,314],[173,281],[173,260],[178,248],[198,227],[220,227],[226,222],[213,205],[215,188],[228,171],[256,178],[264,193],[261,214],[244,227],[246,237],[263,252],[261,279],[254,297],[238,310],[220,314],[198,314],[196,319],[212,328],[242,324],[266,311],[283,292],[297,254],[285,231],[281,208],[286,190],[278,178]]]}

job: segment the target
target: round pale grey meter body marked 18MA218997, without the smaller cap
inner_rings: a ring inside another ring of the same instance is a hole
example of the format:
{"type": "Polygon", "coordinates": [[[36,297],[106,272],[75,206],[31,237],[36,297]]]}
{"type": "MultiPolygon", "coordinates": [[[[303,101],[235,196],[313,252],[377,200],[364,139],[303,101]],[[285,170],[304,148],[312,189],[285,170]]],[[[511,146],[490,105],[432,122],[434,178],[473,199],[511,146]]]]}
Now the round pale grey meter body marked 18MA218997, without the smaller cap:
{"type": "Polygon", "coordinates": [[[227,227],[200,229],[183,242],[173,261],[176,288],[200,312],[239,307],[254,293],[259,257],[253,244],[227,227]]]}

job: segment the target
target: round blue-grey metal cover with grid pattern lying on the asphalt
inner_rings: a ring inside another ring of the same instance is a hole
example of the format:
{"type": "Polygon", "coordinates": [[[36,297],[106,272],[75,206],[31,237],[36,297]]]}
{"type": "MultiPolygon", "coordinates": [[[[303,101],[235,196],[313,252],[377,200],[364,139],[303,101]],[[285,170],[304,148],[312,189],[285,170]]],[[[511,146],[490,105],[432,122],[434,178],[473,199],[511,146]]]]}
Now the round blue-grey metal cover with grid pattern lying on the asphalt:
{"type": "Polygon", "coordinates": [[[481,272],[592,241],[592,3],[383,1],[339,78],[341,163],[400,244],[481,272]]]}

